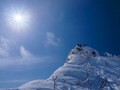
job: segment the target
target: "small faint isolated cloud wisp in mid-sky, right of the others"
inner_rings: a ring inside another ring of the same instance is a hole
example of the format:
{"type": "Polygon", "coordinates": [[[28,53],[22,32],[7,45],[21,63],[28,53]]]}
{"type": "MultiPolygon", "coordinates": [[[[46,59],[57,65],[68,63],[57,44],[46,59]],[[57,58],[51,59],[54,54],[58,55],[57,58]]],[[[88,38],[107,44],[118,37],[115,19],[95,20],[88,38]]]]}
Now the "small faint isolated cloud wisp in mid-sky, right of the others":
{"type": "Polygon", "coordinates": [[[58,46],[59,45],[60,39],[57,38],[52,32],[47,32],[46,37],[47,37],[46,46],[48,45],[58,46]]]}

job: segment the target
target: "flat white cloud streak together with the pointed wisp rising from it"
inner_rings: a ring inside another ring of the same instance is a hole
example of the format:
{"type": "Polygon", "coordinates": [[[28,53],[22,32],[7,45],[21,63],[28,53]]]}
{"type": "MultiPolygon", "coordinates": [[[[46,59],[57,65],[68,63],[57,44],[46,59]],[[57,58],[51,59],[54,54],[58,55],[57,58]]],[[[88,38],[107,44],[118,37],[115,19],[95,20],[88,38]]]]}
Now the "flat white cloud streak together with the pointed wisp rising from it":
{"type": "MultiPolygon", "coordinates": [[[[9,47],[10,48],[10,47],[9,47]]],[[[26,66],[26,65],[34,65],[37,63],[41,63],[44,61],[48,61],[51,57],[49,56],[34,56],[29,51],[27,51],[24,46],[19,47],[19,56],[7,56],[7,57],[0,57],[0,69],[9,67],[9,66],[26,66]]],[[[9,53],[9,52],[8,52],[9,53]]],[[[2,53],[4,54],[4,53],[2,53]]]]}

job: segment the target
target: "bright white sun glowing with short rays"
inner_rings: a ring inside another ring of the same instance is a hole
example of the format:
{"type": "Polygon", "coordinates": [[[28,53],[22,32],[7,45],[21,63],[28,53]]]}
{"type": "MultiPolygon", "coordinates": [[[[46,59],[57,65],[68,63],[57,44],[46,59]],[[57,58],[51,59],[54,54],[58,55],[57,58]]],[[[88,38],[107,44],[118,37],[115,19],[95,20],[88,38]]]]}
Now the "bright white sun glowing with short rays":
{"type": "Polygon", "coordinates": [[[12,30],[25,30],[29,26],[30,15],[23,9],[11,9],[7,13],[7,21],[12,30]]]}

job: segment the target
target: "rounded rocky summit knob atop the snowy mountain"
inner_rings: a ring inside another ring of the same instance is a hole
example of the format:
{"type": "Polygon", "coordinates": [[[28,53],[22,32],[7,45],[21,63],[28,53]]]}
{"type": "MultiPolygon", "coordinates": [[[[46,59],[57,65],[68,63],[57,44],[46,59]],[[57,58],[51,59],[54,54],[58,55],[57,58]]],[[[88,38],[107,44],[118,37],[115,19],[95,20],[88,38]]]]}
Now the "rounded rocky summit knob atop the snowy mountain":
{"type": "Polygon", "coordinates": [[[67,63],[71,64],[82,64],[90,60],[90,58],[99,56],[97,50],[92,49],[88,46],[76,45],[72,49],[67,57],[67,63]]]}

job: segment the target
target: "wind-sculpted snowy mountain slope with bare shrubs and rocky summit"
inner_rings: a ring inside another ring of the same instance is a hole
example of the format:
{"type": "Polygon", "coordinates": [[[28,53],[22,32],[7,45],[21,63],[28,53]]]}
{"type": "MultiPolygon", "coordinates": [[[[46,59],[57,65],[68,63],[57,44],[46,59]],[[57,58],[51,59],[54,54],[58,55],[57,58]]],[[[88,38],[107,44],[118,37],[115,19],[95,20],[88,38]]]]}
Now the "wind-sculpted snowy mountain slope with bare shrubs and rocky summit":
{"type": "Polygon", "coordinates": [[[71,50],[66,63],[47,80],[28,82],[20,90],[120,90],[120,58],[100,56],[87,46],[71,50]]]}

